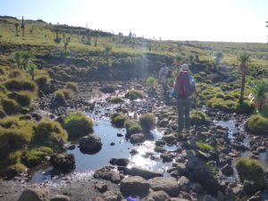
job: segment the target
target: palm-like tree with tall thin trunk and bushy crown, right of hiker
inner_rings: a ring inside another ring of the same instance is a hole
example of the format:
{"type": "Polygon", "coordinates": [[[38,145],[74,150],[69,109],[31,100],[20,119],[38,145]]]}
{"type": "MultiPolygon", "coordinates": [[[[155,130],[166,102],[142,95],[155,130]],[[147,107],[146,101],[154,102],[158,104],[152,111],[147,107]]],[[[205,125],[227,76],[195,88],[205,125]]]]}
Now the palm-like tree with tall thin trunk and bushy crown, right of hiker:
{"type": "Polygon", "coordinates": [[[247,53],[240,54],[238,60],[239,60],[239,70],[242,75],[239,103],[242,104],[244,100],[246,75],[249,70],[248,63],[250,62],[250,54],[247,53]]]}

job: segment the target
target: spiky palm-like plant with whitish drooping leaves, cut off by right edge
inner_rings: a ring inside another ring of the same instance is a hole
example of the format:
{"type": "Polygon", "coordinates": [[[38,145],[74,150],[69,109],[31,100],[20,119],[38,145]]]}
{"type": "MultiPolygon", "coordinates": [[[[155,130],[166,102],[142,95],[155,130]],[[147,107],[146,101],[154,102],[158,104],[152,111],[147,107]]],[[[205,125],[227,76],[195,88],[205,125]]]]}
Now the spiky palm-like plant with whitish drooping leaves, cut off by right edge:
{"type": "Polygon", "coordinates": [[[268,85],[264,81],[251,82],[252,93],[248,96],[250,103],[255,105],[257,110],[263,110],[266,104],[268,85]]]}

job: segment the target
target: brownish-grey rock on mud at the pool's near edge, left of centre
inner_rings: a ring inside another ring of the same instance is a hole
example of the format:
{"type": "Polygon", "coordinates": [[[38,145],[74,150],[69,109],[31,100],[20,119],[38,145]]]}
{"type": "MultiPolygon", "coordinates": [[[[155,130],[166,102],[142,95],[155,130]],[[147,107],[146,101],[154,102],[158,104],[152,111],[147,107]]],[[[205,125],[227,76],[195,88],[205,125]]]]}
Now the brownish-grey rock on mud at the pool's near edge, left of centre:
{"type": "Polygon", "coordinates": [[[110,180],[113,183],[119,183],[121,180],[120,174],[111,170],[109,167],[103,167],[94,172],[93,177],[95,179],[110,180]]]}

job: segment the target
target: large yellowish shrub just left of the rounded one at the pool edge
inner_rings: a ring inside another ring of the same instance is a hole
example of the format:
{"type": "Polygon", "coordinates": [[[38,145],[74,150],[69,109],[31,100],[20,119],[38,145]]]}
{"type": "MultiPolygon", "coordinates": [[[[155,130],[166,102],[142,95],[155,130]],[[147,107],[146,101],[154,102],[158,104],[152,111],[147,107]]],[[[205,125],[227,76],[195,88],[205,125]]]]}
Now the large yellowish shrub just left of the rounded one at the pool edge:
{"type": "Polygon", "coordinates": [[[62,149],[66,139],[67,133],[59,122],[44,119],[34,127],[32,147],[45,146],[57,151],[62,149]]]}

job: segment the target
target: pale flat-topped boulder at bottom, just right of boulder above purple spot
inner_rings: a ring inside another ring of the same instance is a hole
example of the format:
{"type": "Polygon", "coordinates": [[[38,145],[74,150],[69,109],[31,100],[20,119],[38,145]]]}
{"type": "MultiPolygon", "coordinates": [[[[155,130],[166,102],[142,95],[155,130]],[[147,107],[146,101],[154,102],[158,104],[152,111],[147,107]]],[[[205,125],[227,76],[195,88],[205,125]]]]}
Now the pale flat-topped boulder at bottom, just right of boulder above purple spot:
{"type": "Polygon", "coordinates": [[[163,190],[170,197],[177,197],[180,193],[178,182],[172,177],[155,177],[148,182],[153,190],[163,190]]]}

